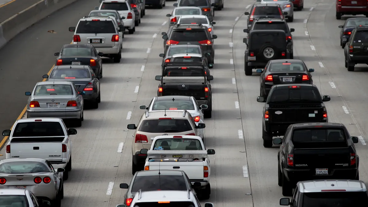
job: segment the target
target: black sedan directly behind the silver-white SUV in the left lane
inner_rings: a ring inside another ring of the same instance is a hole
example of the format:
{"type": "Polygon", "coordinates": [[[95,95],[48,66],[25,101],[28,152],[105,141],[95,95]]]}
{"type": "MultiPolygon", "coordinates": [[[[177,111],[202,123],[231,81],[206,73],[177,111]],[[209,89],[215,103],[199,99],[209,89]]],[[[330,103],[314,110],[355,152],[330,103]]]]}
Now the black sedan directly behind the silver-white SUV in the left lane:
{"type": "Polygon", "coordinates": [[[58,56],[56,66],[60,65],[86,65],[90,66],[95,74],[102,75],[102,52],[97,52],[92,45],[70,44],[64,45],[58,56]]]}

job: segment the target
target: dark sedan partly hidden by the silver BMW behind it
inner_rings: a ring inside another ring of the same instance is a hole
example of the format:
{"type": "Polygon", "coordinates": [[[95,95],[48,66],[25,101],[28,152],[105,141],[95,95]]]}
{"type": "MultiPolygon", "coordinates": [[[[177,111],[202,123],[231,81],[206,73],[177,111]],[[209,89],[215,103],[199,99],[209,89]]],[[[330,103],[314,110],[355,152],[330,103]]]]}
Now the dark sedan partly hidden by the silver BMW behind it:
{"type": "Polygon", "coordinates": [[[54,66],[50,76],[43,75],[46,81],[71,81],[77,87],[76,90],[82,93],[83,99],[88,102],[92,108],[97,109],[101,102],[100,81],[101,74],[93,73],[89,66],[54,66]]]}

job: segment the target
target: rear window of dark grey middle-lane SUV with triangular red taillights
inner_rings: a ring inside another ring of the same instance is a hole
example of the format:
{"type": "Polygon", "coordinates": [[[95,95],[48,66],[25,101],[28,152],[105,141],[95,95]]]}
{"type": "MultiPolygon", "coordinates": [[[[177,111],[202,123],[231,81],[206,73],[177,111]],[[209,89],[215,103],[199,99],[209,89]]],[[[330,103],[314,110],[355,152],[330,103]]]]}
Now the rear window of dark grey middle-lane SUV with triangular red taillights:
{"type": "Polygon", "coordinates": [[[206,32],[202,29],[196,30],[174,30],[171,40],[179,42],[198,42],[207,39],[206,32]]]}

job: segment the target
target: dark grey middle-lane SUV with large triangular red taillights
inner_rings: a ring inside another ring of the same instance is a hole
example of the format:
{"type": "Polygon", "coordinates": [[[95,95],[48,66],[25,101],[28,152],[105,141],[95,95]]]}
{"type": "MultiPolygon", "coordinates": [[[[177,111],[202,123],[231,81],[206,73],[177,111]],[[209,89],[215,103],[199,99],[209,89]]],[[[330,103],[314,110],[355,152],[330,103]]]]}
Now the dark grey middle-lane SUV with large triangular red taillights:
{"type": "Polygon", "coordinates": [[[210,35],[208,28],[202,24],[177,24],[169,28],[169,31],[161,33],[164,53],[170,45],[200,45],[204,53],[208,54],[208,63],[214,62],[215,49],[213,40],[217,35],[210,35]]]}

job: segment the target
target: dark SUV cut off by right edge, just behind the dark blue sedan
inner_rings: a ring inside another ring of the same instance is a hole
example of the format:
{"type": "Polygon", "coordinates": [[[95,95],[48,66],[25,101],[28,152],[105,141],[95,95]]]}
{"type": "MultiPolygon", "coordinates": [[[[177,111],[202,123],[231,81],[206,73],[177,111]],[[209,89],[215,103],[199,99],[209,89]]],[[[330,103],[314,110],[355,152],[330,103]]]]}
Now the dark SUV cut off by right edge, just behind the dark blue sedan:
{"type": "MultiPolygon", "coordinates": [[[[347,41],[347,38],[343,38],[343,41],[347,41]]],[[[368,64],[368,27],[357,27],[351,31],[344,54],[348,71],[354,71],[355,64],[368,64]]]]}

